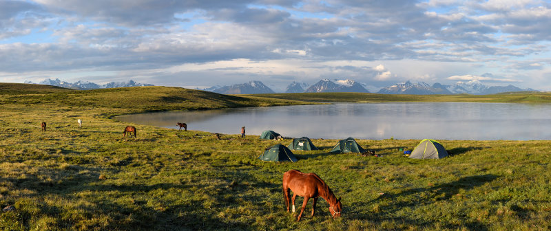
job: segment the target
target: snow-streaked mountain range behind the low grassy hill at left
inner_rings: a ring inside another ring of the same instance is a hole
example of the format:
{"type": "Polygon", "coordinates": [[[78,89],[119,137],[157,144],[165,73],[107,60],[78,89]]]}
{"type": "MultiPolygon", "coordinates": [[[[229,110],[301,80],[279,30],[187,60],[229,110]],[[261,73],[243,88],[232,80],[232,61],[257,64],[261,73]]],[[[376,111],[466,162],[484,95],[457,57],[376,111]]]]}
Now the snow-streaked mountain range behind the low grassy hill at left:
{"type": "MultiPolygon", "coordinates": [[[[32,83],[30,81],[25,81],[25,83],[32,83]]],[[[59,80],[59,78],[56,78],[55,80],[51,80],[50,78],[47,78],[45,80],[42,80],[40,83],[41,85],[52,85],[57,87],[65,87],[70,89],[77,89],[77,90],[90,90],[90,89],[98,89],[98,88],[114,88],[114,87],[144,87],[144,86],[153,86],[147,83],[136,83],[134,80],[129,80],[128,82],[110,82],[106,83],[104,85],[98,85],[96,83],[88,82],[88,81],[77,81],[75,83],[69,83],[65,81],[59,80]]]]}

